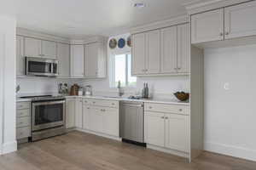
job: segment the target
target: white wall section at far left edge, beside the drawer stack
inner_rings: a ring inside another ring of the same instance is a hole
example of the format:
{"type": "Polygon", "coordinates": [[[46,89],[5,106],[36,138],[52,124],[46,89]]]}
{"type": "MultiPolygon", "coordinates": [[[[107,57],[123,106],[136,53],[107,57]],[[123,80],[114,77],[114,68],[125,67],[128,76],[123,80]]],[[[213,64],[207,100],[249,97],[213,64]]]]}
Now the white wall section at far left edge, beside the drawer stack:
{"type": "Polygon", "coordinates": [[[16,20],[0,16],[0,147],[1,153],[17,149],[15,105],[16,20]]]}

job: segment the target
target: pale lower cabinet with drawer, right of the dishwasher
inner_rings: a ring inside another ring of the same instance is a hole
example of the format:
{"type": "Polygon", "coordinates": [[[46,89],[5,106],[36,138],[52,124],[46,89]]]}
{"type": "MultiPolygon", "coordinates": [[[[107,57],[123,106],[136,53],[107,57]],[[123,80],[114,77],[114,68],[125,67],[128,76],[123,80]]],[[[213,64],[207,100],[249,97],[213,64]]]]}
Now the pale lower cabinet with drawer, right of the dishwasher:
{"type": "Polygon", "coordinates": [[[189,113],[169,112],[177,107],[180,107],[178,111],[187,110],[187,106],[145,104],[144,137],[147,144],[189,153],[189,113]],[[153,111],[160,106],[166,111],[153,111]]]}

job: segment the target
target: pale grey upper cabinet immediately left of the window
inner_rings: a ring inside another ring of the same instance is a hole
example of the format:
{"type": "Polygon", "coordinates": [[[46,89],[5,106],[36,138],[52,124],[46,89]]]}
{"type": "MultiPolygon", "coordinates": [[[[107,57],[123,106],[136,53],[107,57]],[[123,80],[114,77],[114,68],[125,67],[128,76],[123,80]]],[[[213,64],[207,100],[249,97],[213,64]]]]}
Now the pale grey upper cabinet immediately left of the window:
{"type": "Polygon", "coordinates": [[[84,76],[106,77],[107,54],[103,42],[84,45],[84,76]]]}

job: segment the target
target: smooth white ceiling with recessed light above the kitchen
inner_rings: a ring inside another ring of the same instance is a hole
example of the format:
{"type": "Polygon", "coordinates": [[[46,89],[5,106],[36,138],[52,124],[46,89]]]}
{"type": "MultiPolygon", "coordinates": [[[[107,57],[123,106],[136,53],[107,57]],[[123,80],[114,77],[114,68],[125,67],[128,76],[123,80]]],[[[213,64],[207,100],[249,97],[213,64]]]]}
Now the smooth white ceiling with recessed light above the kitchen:
{"type": "MultiPolygon", "coordinates": [[[[209,0],[193,0],[209,1],[209,0]]],[[[18,27],[60,37],[117,35],[157,20],[186,14],[191,0],[0,0],[0,14],[12,14],[18,27]],[[145,3],[134,8],[134,3],[145,3]]]]}

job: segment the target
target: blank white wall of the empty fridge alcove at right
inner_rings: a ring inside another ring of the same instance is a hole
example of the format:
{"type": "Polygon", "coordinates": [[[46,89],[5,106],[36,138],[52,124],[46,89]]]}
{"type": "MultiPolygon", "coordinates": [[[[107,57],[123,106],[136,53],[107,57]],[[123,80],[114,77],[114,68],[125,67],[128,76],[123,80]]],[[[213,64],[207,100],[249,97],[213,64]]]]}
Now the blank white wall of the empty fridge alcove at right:
{"type": "Polygon", "coordinates": [[[256,45],[205,50],[206,150],[256,161],[255,64],[256,45]]]}

